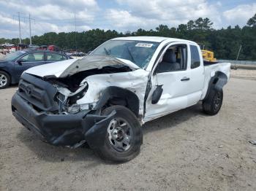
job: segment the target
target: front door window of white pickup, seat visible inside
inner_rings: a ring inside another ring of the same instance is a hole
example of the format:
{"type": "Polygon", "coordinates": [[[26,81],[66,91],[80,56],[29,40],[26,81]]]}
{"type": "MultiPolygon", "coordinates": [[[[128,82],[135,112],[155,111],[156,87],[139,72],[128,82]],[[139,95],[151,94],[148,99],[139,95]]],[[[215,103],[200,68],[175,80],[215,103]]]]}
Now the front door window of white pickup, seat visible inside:
{"type": "Polygon", "coordinates": [[[157,66],[157,73],[187,69],[187,45],[177,44],[169,47],[157,66]]]}

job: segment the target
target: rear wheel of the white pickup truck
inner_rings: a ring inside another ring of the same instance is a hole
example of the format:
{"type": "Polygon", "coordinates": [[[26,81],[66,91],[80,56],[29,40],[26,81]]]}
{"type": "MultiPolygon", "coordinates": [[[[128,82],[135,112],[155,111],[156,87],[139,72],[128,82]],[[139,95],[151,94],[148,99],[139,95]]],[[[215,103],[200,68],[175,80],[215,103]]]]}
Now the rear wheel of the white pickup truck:
{"type": "Polygon", "coordinates": [[[203,112],[209,115],[214,115],[219,112],[222,107],[223,91],[212,89],[208,97],[203,101],[203,112]]]}

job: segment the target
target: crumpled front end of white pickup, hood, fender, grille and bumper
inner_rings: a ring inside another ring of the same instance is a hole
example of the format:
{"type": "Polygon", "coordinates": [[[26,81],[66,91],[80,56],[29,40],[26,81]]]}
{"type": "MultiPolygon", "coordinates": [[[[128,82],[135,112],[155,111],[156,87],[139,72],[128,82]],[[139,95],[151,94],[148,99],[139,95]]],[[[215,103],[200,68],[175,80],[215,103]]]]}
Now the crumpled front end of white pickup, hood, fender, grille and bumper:
{"type": "Polygon", "coordinates": [[[136,116],[143,113],[139,100],[146,90],[146,71],[105,56],[62,64],[50,63],[48,67],[52,70],[48,71],[45,66],[29,69],[23,73],[12,97],[13,115],[44,141],[72,148],[85,142],[90,147],[103,144],[106,128],[116,113],[100,115],[105,106],[105,102],[99,101],[104,97],[102,93],[104,98],[119,94],[136,116]]]}

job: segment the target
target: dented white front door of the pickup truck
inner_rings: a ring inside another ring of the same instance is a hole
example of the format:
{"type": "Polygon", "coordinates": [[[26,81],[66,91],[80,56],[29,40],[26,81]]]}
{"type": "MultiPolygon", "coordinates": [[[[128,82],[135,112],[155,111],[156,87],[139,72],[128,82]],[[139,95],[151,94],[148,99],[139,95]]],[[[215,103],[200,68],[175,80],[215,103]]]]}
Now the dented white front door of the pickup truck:
{"type": "Polygon", "coordinates": [[[188,44],[171,44],[162,55],[151,76],[152,88],[146,101],[144,120],[152,120],[188,106],[189,80],[188,44]],[[152,104],[152,95],[157,86],[162,86],[162,95],[157,104],[152,104]]]}

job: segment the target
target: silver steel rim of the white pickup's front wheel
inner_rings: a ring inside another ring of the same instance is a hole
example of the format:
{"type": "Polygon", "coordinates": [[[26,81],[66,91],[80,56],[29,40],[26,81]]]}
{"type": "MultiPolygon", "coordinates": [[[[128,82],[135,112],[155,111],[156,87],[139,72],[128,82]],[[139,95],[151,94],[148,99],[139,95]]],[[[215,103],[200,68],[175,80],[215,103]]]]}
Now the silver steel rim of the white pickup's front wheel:
{"type": "Polygon", "coordinates": [[[118,152],[126,152],[131,147],[132,128],[121,117],[113,119],[108,125],[108,141],[118,152]]]}

